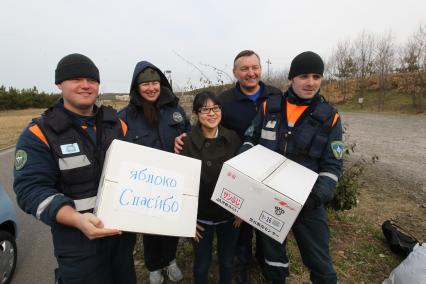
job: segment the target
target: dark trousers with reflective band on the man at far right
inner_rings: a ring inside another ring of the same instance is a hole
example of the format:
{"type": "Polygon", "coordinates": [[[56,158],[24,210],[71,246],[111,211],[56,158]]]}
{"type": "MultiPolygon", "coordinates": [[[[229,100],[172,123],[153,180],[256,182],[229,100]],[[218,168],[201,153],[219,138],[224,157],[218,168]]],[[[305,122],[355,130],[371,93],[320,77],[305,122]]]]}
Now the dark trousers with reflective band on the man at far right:
{"type": "MultiPolygon", "coordinates": [[[[329,229],[323,206],[302,211],[292,227],[303,263],[309,268],[312,283],[335,284],[336,272],[329,252],[329,229]]],[[[262,234],[265,270],[272,283],[283,283],[288,276],[285,244],[262,234]]]]}

